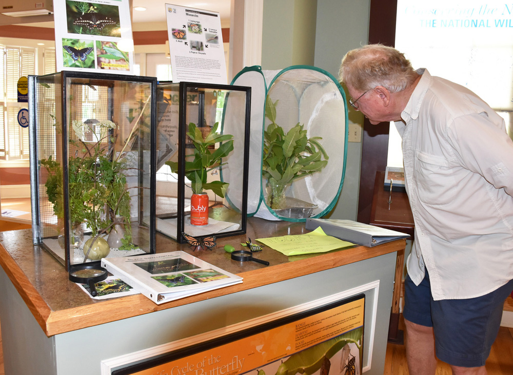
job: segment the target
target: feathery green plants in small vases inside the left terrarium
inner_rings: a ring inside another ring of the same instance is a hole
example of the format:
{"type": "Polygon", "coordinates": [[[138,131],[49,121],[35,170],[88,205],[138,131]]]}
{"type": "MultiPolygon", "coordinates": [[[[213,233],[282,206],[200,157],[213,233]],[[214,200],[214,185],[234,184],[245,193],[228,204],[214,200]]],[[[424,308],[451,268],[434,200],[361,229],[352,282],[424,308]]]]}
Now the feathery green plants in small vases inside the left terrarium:
{"type": "MultiPolygon", "coordinates": [[[[133,248],[130,227],[130,195],[125,172],[130,155],[125,151],[134,134],[130,133],[120,153],[114,153],[117,140],[116,124],[110,120],[94,124],[73,120],[68,140],[74,154],[68,158],[68,203],[72,226],[71,244],[80,246],[83,240],[82,224],[91,232],[91,239],[83,246],[86,257],[98,260],[107,256],[110,246],[101,237],[115,224],[123,223],[123,238],[119,248],[133,248]],[[94,125],[94,126],[93,126],[94,125]]],[[[40,161],[47,171],[45,183],[48,200],[53,204],[57,218],[64,219],[63,170],[60,162],[40,161]]],[[[119,228],[119,227],[118,227],[119,228]]],[[[61,237],[64,241],[64,237],[61,237]]],[[[61,243],[64,247],[64,242],[61,243]]]]}

